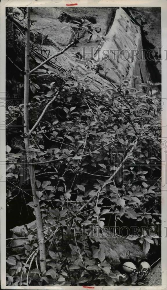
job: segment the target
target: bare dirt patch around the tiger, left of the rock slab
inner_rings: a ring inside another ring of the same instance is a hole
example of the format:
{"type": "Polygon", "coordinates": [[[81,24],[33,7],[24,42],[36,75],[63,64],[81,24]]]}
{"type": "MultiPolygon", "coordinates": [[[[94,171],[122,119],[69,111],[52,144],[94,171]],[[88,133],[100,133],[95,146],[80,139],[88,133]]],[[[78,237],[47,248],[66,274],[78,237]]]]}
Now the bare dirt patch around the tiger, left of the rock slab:
{"type": "MultiPolygon", "coordinates": [[[[72,47],[68,50],[68,52],[82,52],[81,47],[86,46],[87,48],[90,46],[94,46],[94,52],[98,45],[100,44],[101,37],[99,35],[104,35],[108,24],[110,23],[112,17],[112,7],[38,7],[33,8],[31,12],[31,17],[35,22],[36,28],[43,28],[51,25],[56,25],[53,27],[49,27],[43,30],[39,30],[41,33],[48,35],[53,41],[57,42],[60,46],[64,47],[68,44],[70,39],[71,30],[68,27],[68,24],[63,22],[61,23],[57,18],[62,12],[66,12],[72,16],[81,17],[83,15],[86,16],[94,16],[97,20],[97,30],[99,27],[101,28],[101,32],[97,33],[95,30],[93,34],[97,35],[95,39],[91,39],[90,43],[86,42],[90,34],[87,34],[83,39],[80,40],[79,44],[76,47],[72,47]]],[[[91,51],[91,49],[90,49],[91,51]]]]}

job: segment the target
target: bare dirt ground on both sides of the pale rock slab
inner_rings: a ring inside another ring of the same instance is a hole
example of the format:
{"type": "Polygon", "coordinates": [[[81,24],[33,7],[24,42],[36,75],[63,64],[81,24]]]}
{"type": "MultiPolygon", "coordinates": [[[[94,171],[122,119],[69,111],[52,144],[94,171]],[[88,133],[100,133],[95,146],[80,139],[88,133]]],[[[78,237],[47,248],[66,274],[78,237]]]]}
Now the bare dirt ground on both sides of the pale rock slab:
{"type": "MultiPolygon", "coordinates": [[[[57,18],[59,15],[64,11],[72,16],[81,17],[83,15],[86,16],[94,16],[97,19],[97,24],[101,28],[101,32],[97,33],[95,30],[93,34],[97,35],[97,37],[92,37],[90,43],[86,42],[90,34],[86,35],[80,42],[77,44],[76,47],[72,47],[68,50],[69,54],[75,55],[75,53],[80,52],[83,55],[83,47],[86,47],[86,51],[90,52],[89,55],[85,55],[85,57],[92,56],[92,51],[95,53],[96,49],[98,48],[101,37],[99,35],[104,35],[108,25],[111,21],[113,7],[38,7],[33,8],[31,12],[31,17],[36,22],[35,28],[43,28],[47,26],[46,29],[39,30],[39,32],[48,35],[53,41],[57,42],[60,48],[64,48],[68,44],[70,39],[71,30],[67,23],[61,23],[57,18]],[[92,47],[92,48],[90,48],[92,47]]],[[[155,46],[155,50],[157,51],[158,55],[161,53],[159,47],[161,46],[161,13],[159,7],[135,7],[137,10],[138,17],[140,15],[145,17],[148,20],[147,24],[144,24],[144,31],[147,32],[147,39],[150,43],[155,46]]],[[[34,27],[32,27],[34,28],[34,27]]],[[[156,66],[161,73],[161,63],[158,61],[156,66]]]]}

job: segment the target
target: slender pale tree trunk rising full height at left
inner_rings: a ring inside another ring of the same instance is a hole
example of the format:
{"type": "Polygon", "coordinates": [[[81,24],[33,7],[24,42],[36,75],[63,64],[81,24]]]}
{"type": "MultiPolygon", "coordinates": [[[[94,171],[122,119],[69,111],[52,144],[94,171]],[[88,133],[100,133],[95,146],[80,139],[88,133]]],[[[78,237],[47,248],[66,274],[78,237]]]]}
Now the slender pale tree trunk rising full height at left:
{"type": "Polygon", "coordinates": [[[39,206],[39,199],[36,195],[36,181],[34,173],[34,165],[29,164],[31,162],[31,149],[30,149],[30,137],[29,137],[29,126],[28,126],[28,96],[29,96],[29,56],[30,54],[30,7],[27,8],[27,30],[26,30],[26,48],[25,48],[25,76],[24,76],[24,142],[26,148],[26,156],[28,162],[28,172],[30,176],[30,183],[32,189],[32,196],[34,202],[35,219],[37,225],[37,236],[39,244],[39,257],[40,257],[40,269],[41,272],[46,271],[46,251],[45,251],[45,240],[43,235],[43,225],[41,218],[41,211],[39,206]]]}

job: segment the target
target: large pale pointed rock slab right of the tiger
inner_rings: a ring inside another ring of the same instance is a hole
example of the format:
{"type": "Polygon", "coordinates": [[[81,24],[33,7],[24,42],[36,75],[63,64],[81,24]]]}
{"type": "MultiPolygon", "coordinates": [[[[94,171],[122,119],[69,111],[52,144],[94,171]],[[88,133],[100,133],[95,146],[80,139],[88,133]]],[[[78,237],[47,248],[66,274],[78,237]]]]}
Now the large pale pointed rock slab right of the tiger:
{"type": "Polygon", "coordinates": [[[120,83],[121,79],[134,76],[140,77],[142,82],[147,81],[140,26],[122,8],[116,11],[107,40],[95,59],[99,61],[100,73],[112,82],[120,83]]]}

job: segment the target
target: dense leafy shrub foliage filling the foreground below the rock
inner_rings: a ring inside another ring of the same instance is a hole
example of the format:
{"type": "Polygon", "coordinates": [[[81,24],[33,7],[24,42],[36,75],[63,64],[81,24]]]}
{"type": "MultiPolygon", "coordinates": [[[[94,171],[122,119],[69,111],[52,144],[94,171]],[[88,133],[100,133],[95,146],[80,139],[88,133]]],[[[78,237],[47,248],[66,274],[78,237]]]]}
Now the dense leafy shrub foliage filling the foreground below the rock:
{"type": "MultiPolygon", "coordinates": [[[[77,69],[61,75],[40,69],[37,79],[43,74],[52,75],[55,82],[46,85],[48,91],[41,95],[39,84],[33,88],[30,84],[37,95],[29,109],[35,110],[37,104],[46,104],[57,94],[50,108],[54,122],[39,123],[30,146],[46,238],[47,272],[38,269],[33,228],[24,253],[7,258],[7,284],[126,284],[127,278],[125,282],[118,278],[105,251],[97,245],[90,247],[88,235],[93,226],[116,229],[117,224],[126,223],[129,229],[139,226],[137,235],[130,230],[127,238],[139,242],[145,253],[159,244],[160,97],[155,84],[148,81],[137,90],[130,85],[131,79],[124,79],[119,86],[111,84],[106,89],[77,69]]],[[[133,81],[135,84],[135,78],[133,81]]],[[[23,114],[22,106],[19,110],[23,114]]],[[[29,195],[27,206],[33,212],[28,185],[20,187],[22,178],[29,183],[24,150],[12,153],[7,146],[7,162],[9,207],[22,193],[29,195]]],[[[117,230],[115,234],[119,236],[117,230]]]]}

